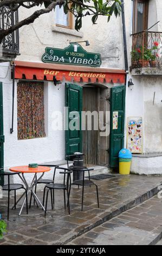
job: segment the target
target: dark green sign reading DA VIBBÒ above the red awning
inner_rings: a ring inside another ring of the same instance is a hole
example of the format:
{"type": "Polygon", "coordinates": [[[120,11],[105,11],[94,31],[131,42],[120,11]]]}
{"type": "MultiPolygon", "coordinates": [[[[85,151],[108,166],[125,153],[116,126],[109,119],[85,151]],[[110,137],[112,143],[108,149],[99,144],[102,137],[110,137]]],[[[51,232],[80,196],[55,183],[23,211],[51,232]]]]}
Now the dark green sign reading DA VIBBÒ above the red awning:
{"type": "Polygon", "coordinates": [[[101,65],[101,54],[87,52],[74,43],[64,49],[47,47],[42,62],[98,67],[101,65]]]}

